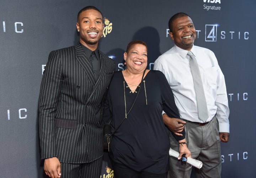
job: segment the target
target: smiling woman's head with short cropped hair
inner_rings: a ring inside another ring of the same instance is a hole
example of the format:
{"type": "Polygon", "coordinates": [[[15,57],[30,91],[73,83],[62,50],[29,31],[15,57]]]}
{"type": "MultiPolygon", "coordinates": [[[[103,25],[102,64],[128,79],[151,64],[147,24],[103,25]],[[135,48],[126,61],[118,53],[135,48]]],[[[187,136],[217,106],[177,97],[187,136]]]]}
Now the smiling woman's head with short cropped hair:
{"type": "Polygon", "coordinates": [[[124,60],[126,61],[127,70],[132,73],[140,73],[144,71],[148,65],[148,51],[146,46],[135,44],[127,52],[124,52],[124,60]]]}

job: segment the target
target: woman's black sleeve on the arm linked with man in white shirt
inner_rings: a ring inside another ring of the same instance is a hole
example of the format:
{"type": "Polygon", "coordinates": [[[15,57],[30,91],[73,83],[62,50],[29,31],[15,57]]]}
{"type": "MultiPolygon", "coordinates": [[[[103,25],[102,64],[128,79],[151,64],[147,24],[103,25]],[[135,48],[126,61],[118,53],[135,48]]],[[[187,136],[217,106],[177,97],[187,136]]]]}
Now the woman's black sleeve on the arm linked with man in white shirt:
{"type": "MultiPolygon", "coordinates": [[[[159,74],[160,74],[159,78],[161,79],[160,84],[161,84],[161,97],[163,102],[163,110],[165,111],[167,116],[180,119],[180,113],[175,104],[174,94],[172,93],[171,87],[169,86],[165,75],[162,74],[161,72],[159,72],[159,74]]],[[[186,136],[185,129],[183,129],[183,131],[181,132],[183,136],[177,136],[173,132],[171,133],[177,141],[184,139],[186,136]]]]}

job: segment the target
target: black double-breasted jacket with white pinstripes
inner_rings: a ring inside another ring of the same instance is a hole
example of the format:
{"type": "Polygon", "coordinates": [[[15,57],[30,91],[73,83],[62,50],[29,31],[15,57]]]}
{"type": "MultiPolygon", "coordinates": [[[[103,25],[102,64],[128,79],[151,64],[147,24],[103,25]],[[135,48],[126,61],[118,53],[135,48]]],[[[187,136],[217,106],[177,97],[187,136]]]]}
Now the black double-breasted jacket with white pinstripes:
{"type": "Polygon", "coordinates": [[[80,44],[52,51],[39,96],[41,159],[86,163],[103,155],[103,98],[114,71],[114,61],[100,54],[97,81],[80,44]]]}

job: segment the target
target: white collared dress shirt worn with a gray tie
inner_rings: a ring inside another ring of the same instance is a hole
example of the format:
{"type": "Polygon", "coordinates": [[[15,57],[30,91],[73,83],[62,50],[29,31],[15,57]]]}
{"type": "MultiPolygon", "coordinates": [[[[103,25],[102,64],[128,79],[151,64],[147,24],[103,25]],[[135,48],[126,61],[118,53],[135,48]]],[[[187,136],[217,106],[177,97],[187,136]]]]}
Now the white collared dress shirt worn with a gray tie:
{"type": "MultiPolygon", "coordinates": [[[[207,48],[193,46],[190,51],[196,57],[202,77],[209,115],[206,122],[216,115],[219,132],[229,132],[228,97],[224,75],[217,58],[207,48]]],[[[203,122],[198,118],[196,93],[187,52],[175,45],[156,59],[154,70],[160,70],[165,74],[174,93],[181,118],[192,122],[203,122]]]]}

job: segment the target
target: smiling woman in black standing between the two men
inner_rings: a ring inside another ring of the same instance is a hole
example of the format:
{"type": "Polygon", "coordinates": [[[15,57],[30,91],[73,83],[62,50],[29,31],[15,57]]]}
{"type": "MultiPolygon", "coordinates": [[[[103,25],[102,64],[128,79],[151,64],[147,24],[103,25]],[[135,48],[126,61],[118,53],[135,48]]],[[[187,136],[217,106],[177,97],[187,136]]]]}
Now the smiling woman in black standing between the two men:
{"type": "MultiPolygon", "coordinates": [[[[126,69],[114,73],[108,88],[103,120],[111,120],[113,132],[126,117],[112,137],[109,153],[116,178],[167,176],[172,133],[162,111],[170,117],[180,115],[164,74],[146,69],[147,52],[145,42],[130,42],[124,52],[126,69]]],[[[181,134],[176,140],[186,142],[185,130],[181,134]]],[[[186,144],[180,144],[179,159],[182,154],[191,155],[186,144]]]]}

